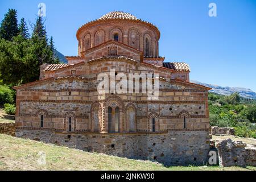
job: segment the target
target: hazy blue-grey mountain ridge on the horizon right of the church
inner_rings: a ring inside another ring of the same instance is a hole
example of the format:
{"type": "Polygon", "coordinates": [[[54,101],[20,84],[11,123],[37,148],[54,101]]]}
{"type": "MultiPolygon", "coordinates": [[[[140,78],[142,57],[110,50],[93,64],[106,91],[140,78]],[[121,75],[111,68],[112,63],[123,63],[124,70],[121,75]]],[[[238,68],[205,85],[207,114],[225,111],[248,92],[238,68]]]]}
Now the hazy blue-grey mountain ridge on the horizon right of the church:
{"type": "Polygon", "coordinates": [[[251,90],[251,89],[205,84],[205,83],[202,83],[199,81],[194,81],[194,80],[191,80],[191,82],[193,82],[195,84],[208,86],[208,87],[212,88],[212,90],[210,90],[210,92],[213,92],[213,93],[229,96],[230,94],[232,94],[234,92],[238,92],[241,97],[251,98],[251,99],[256,100],[256,93],[253,92],[253,90],[251,90]]]}

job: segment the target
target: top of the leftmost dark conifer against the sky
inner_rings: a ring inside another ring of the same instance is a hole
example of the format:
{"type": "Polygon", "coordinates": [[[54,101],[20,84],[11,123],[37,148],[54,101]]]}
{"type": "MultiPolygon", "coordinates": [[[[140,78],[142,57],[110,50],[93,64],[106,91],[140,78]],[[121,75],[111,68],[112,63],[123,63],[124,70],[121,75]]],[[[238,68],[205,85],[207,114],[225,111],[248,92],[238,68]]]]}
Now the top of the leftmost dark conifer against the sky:
{"type": "Polygon", "coordinates": [[[12,40],[14,36],[19,34],[17,11],[9,9],[3,18],[0,26],[0,38],[12,40]]]}

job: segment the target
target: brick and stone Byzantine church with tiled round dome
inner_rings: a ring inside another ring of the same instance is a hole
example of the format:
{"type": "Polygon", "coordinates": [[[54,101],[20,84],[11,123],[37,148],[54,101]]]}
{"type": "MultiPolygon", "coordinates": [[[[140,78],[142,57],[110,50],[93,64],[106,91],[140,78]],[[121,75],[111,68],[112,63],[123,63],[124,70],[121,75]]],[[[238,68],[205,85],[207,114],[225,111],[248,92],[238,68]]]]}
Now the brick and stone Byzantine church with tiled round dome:
{"type": "Polygon", "coordinates": [[[186,63],[159,56],[160,31],[115,11],[82,25],[78,56],[44,64],[40,80],[16,86],[16,135],[89,152],[167,165],[205,164],[208,90],[189,82],[186,63]],[[159,74],[159,98],[98,93],[100,73],[159,74]]]}

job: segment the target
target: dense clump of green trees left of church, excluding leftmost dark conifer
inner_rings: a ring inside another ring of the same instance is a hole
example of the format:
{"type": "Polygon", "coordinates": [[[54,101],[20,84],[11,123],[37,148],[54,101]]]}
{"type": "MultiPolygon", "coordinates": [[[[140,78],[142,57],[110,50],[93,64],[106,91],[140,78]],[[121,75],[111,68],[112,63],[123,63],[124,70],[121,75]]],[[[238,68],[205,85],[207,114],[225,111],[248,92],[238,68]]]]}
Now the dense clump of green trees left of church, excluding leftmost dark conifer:
{"type": "Polygon", "coordinates": [[[0,80],[11,86],[39,80],[40,65],[59,63],[53,53],[53,39],[48,43],[42,17],[36,20],[31,38],[24,18],[17,30],[17,35],[10,40],[0,39],[0,80]]]}

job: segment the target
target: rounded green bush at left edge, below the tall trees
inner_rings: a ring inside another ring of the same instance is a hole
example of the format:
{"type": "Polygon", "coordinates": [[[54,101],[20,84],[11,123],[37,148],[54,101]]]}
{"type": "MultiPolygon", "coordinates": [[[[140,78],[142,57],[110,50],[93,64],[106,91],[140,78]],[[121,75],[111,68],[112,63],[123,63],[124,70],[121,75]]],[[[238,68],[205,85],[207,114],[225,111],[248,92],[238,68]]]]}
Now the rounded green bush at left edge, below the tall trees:
{"type": "Polygon", "coordinates": [[[15,91],[8,86],[0,85],[0,105],[5,103],[13,104],[15,97],[15,91]]]}

